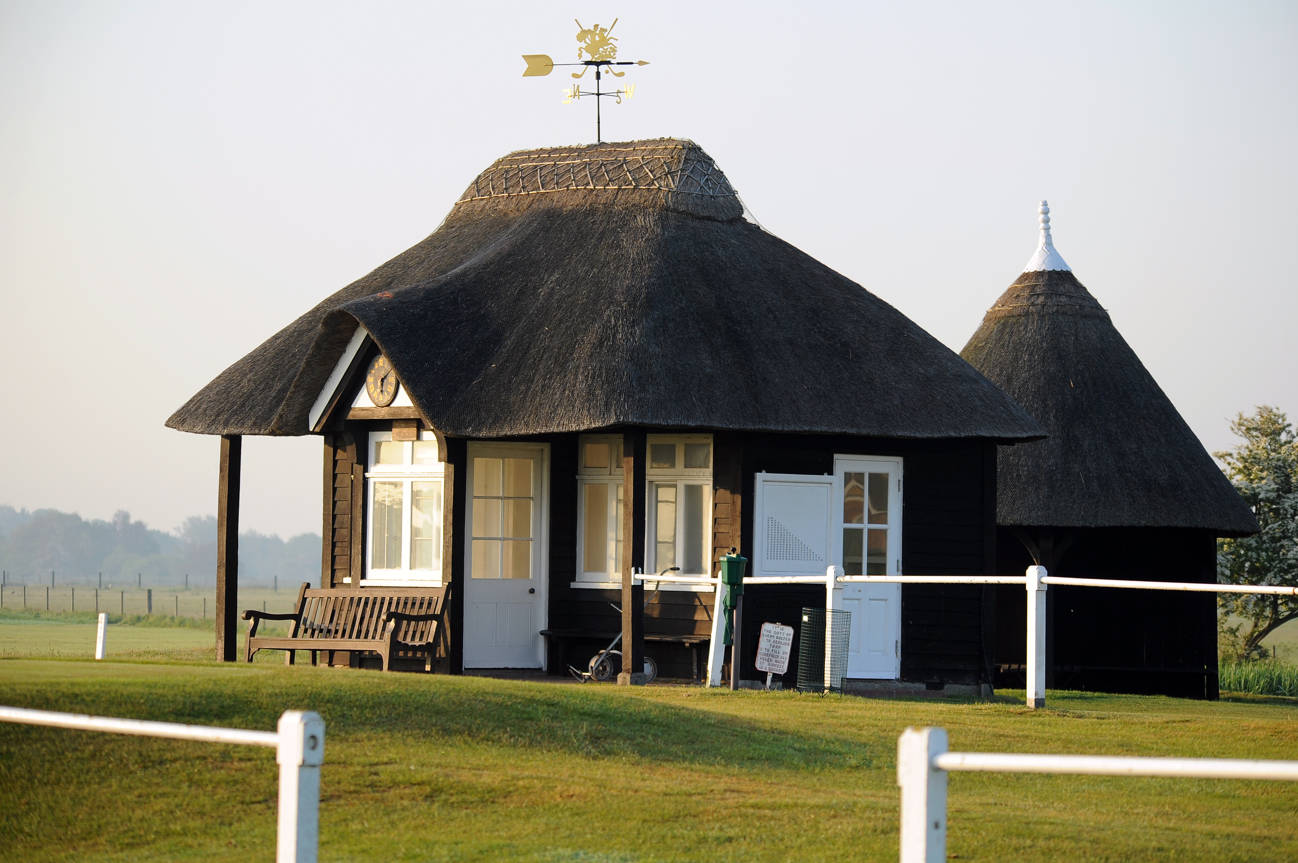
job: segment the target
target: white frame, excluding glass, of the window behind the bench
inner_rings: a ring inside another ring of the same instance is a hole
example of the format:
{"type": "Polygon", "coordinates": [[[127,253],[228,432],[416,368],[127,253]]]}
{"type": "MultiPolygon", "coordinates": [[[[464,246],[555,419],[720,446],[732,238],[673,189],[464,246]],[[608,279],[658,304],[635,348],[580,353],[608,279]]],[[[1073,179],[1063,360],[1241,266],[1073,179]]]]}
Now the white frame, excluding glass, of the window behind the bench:
{"type": "MultiPolygon", "coordinates": [[[[404,443],[404,463],[401,465],[379,465],[375,450],[376,444],[392,441],[392,432],[370,432],[369,440],[366,441],[366,463],[369,470],[365,472],[365,577],[361,579],[361,587],[404,587],[404,588],[440,588],[443,585],[443,575],[447,571],[449,561],[445,559],[445,532],[449,517],[449,510],[447,509],[447,466],[441,462],[436,465],[414,465],[413,458],[413,441],[404,443]],[[401,481],[402,483],[402,496],[401,496],[401,568],[398,570],[375,570],[374,568],[374,483],[375,481],[401,481]],[[440,481],[441,483],[441,536],[435,541],[439,550],[441,550],[441,568],[440,570],[411,570],[410,568],[410,544],[414,540],[413,531],[410,527],[410,506],[411,506],[411,483],[427,483],[427,481],[440,481]]],[[[431,431],[421,431],[419,441],[432,441],[436,446],[436,436],[431,431]]]]}

